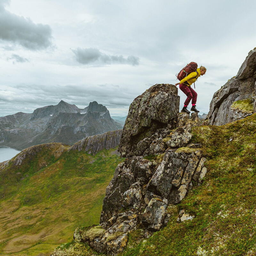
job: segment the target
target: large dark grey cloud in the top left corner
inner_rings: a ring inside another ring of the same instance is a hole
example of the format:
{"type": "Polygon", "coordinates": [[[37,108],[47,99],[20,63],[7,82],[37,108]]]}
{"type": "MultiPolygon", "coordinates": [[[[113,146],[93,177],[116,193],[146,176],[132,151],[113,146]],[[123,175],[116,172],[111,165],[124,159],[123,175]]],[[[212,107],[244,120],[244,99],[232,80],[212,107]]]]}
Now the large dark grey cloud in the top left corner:
{"type": "Polygon", "coordinates": [[[29,50],[40,50],[50,46],[50,26],[35,24],[29,18],[6,11],[4,6],[8,3],[6,0],[0,3],[0,39],[20,44],[29,50]]]}

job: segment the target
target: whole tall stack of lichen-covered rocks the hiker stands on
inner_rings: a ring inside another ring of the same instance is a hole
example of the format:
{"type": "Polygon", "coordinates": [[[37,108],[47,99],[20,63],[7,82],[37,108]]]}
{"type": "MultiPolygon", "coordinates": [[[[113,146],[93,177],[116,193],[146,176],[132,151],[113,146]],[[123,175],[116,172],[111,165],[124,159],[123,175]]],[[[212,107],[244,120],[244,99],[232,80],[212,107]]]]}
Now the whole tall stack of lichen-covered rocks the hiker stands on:
{"type": "MultiPolygon", "coordinates": [[[[179,113],[177,88],[156,84],[137,97],[127,116],[119,152],[126,156],[110,181],[100,225],[77,228],[76,242],[100,253],[122,252],[128,234],[143,228],[144,237],[165,226],[169,208],[204,178],[207,169],[200,144],[190,143],[197,113],[179,113]]],[[[59,255],[56,250],[53,255],[59,255]]]]}

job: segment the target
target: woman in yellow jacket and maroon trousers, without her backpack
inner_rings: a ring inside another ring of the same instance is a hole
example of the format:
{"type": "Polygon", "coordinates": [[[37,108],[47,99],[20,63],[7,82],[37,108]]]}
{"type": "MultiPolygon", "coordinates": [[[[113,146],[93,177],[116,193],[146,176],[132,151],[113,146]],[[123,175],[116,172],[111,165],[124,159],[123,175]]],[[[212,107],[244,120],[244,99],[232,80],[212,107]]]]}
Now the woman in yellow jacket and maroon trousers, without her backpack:
{"type": "Polygon", "coordinates": [[[186,112],[188,114],[190,113],[187,107],[191,99],[192,99],[192,108],[190,110],[197,113],[199,112],[196,109],[197,93],[196,91],[194,91],[194,89],[191,88],[191,84],[195,83],[197,78],[199,76],[203,76],[205,72],[206,72],[206,68],[201,66],[200,68],[197,68],[195,72],[191,72],[185,78],[180,80],[179,83],[175,84],[175,86],[179,84],[180,90],[187,95],[187,99],[184,102],[184,107],[182,108],[181,112],[186,112]]]}

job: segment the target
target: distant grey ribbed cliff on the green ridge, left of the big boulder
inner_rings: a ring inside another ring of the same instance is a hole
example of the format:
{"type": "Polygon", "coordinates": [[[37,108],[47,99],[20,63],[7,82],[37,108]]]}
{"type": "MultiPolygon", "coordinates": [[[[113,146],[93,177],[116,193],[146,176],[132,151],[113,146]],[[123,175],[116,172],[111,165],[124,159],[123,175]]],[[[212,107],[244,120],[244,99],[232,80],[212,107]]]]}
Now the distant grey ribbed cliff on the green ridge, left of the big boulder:
{"type": "Polygon", "coordinates": [[[102,149],[116,148],[119,145],[123,130],[105,132],[99,135],[89,136],[77,141],[69,150],[87,151],[95,154],[102,149]]]}

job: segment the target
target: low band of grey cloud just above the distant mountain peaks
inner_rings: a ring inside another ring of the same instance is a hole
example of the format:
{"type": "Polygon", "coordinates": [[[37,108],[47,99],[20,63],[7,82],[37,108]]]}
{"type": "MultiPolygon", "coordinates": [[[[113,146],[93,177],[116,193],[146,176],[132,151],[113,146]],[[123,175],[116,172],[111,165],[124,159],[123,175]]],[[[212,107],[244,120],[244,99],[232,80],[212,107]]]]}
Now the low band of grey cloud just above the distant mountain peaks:
{"type": "Polygon", "coordinates": [[[128,112],[133,99],[142,92],[118,87],[114,84],[102,86],[85,85],[28,85],[20,84],[15,87],[5,87],[0,90],[0,116],[11,115],[17,112],[32,113],[34,109],[47,105],[56,105],[60,100],[69,104],[75,104],[81,108],[89,105],[91,101],[97,101],[107,108],[121,108],[128,112]],[[15,102],[15,104],[13,104],[15,102]]]}

